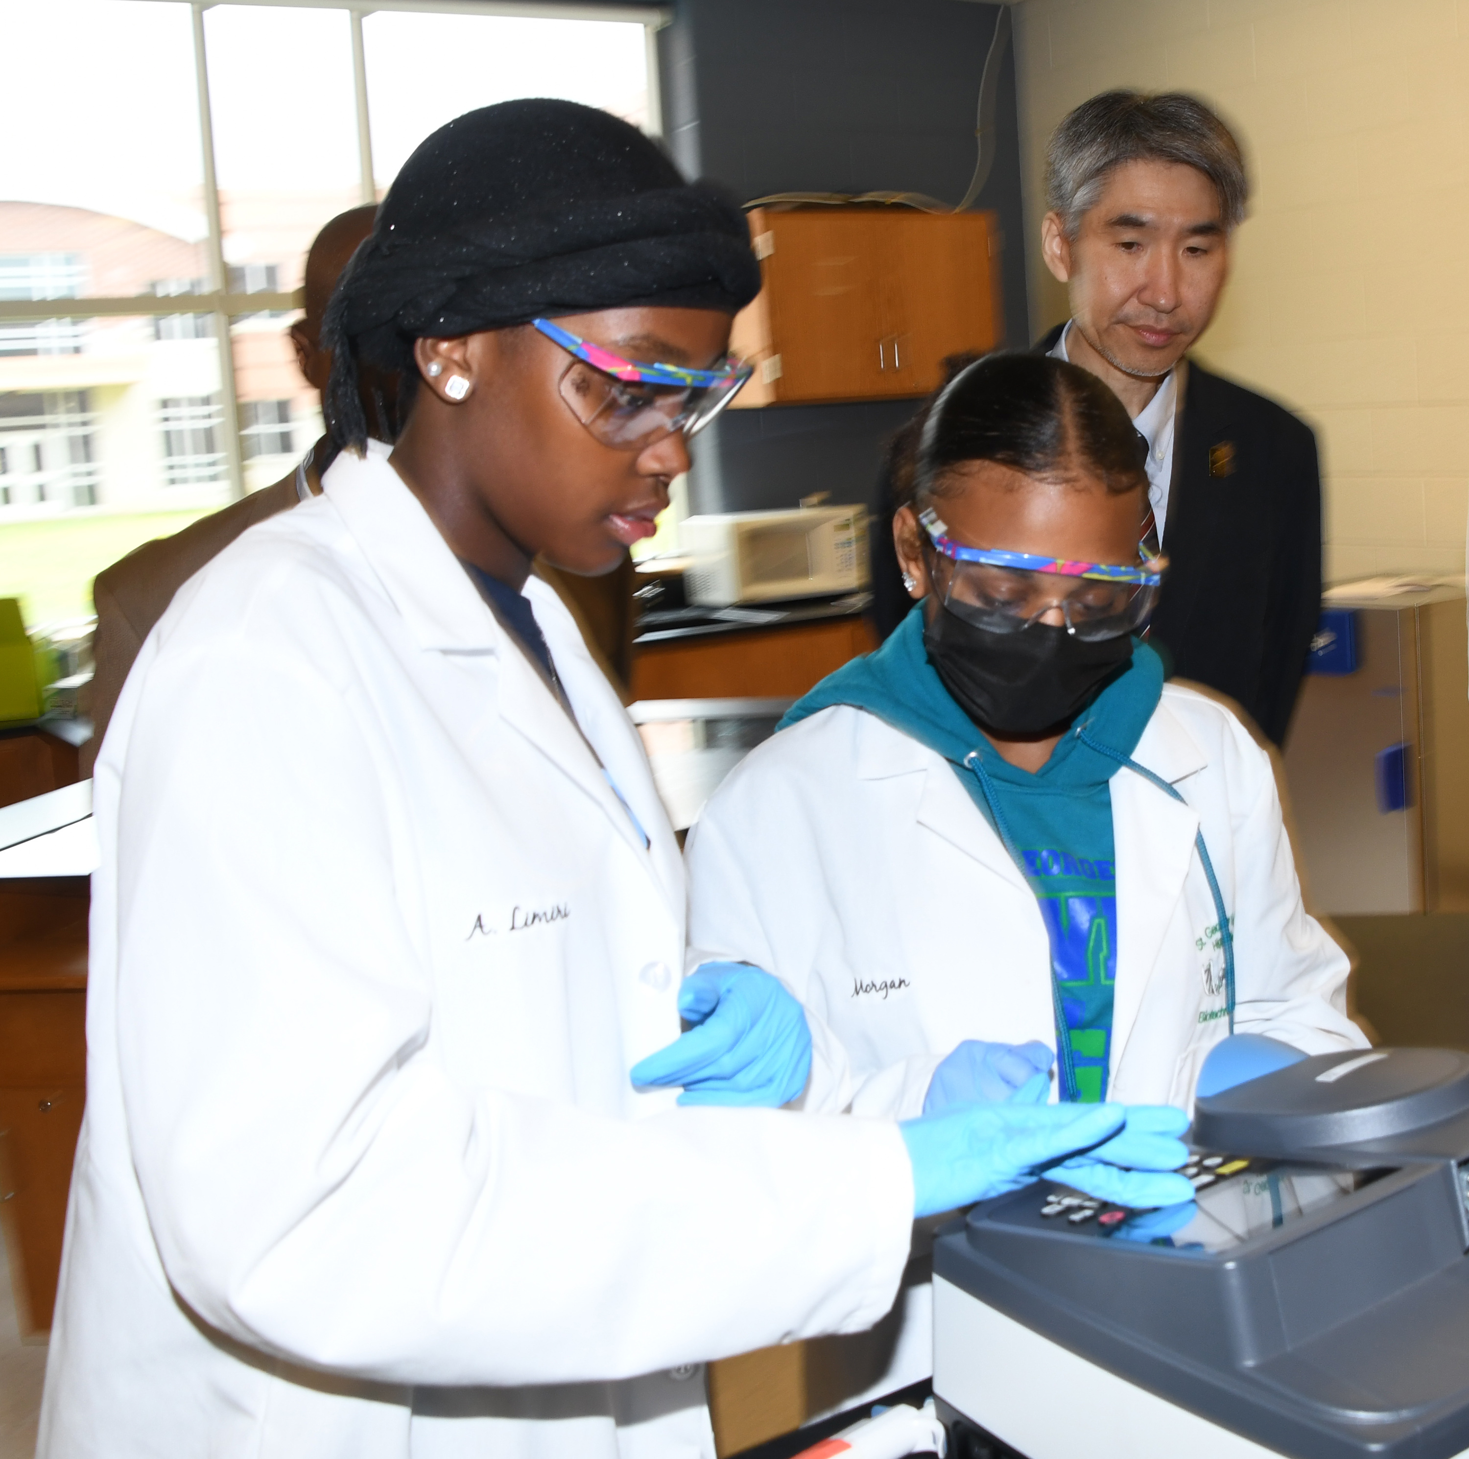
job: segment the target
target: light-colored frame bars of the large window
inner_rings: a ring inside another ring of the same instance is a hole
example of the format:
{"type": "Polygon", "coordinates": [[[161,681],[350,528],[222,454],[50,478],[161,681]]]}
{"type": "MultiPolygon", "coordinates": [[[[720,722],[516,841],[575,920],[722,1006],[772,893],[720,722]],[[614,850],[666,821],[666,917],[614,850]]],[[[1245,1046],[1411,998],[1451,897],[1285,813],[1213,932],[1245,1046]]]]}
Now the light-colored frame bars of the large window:
{"type": "Polygon", "coordinates": [[[357,100],[358,194],[363,204],[378,201],[378,182],[372,163],[372,118],[367,109],[367,56],[363,46],[363,16],[375,10],[397,10],[414,15],[483,15],[544,21],[608,21],[643,28],[643,53],[648,76],[648,134],[663,137],[663,96],[658,76],[658,31],[673,21],[673,10],[658,4],[576,4],[561,0],[163,0],[188,4],[194,22],[194,81],[198,97],[200,150],[204,160],[204,213],[209,220],[207,288],[187,295],[188,310],[179,309],[185,295],[140,294],[128,298],[100,295],[94,298],[6,300],[0,314],[7,322],[50,319],[150,317],[167,314],[209,314],[214,338],[219,341],[219,394],[223,406],[226,480],[229,497],[245,495],[245,455],[239,422],[239,398],[235,385],[235,356],[231,325],[250,314],[286,313],[300,310],[304,292],[261,291],[237,294],[229,291],[229,269],[225,263],[225,237],[220,223],[219,184],[214,178],[214,123],[209,98],[209,54],[204,41],[204,12],[222,4],[269,6],[294,10],[347,10],[351,18],[353,81],[357,100]]]}

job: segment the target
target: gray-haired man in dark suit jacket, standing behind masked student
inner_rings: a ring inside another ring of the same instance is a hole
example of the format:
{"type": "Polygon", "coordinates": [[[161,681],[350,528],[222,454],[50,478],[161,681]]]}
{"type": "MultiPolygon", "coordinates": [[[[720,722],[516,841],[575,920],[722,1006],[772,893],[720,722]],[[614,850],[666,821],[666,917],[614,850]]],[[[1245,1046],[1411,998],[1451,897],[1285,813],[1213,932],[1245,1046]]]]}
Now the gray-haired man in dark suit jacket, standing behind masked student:
{"type": "MultiPolygon", "coordinates": [[[[1153,525],[1172,564],[1149,644],[1169,676],[1228,695],[1281,745],[1321,613],[1316,439],[1187,357],[1218,307],[1247,195],[1238,143],[1202,101],[1084,101],[1050,138],[1042,223],[1071,319],[1037,348],[1105,381],[1147,442],[1153,525]]],[[[886,635],[905,610],[892,550],[878,547],[886,635]]]]}

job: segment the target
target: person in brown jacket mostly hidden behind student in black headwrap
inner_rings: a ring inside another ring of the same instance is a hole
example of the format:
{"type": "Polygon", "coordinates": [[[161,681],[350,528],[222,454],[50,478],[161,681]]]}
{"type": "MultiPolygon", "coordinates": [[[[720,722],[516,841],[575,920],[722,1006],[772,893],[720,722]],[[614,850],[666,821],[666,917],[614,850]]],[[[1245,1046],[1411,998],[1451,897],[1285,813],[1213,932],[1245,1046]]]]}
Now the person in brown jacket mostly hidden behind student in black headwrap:
{"type": "MultiPolygon", "coordinates": [[[[332,357],[322,348],[326,301],[332,297],[347,260],[372,232],[376,213],[378,209],[370,204],[338,213],[316,235],[306,256],[306,309],[303,317],[291,326],[291,344],[295,347],[301,375],[319,392],[326,389],[332,369],[332,357]]],[[[364,403],[372,410],[369,419],[376,416],[376,431],[391,433],[395,408],[391,386],[378,381],[373,389],[376,395],[364,403]]],[[[95,670],[88,698],[93,738],[82,746],[84,776],[93,771],[128,670],[132,669],[148,630],[173,601],[173,594],[241,532],[320,492],[322,472],[331,464],[329,457],[329,436],[323,436],[273,486],[250,492],[173,536],[144,542],[97,574],[93,583],[93,605],[97,608],[97,633],[93,641],[95,670]]]]}

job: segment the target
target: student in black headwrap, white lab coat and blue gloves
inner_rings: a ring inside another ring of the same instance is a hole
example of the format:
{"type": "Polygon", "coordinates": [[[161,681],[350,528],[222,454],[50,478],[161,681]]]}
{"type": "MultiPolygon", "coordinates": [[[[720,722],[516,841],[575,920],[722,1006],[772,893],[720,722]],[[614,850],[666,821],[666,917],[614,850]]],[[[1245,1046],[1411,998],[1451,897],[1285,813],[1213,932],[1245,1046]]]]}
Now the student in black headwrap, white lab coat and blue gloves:
{"type": "Polygon", "coordinates": [[[683,979],[638,735],[527,573],[652,529],[757,287],[599,112],[404,166],[328,311],[323,494],[179,591],[97,763],[41,1459],[712,1459],[702,1361],[870,1325],[915,1211],[1122,1124],[676,1108],[798,1100],[811,1036],[758,968],[683,979]],[[416,382],[391,448],[369,366],[416,382]]]}

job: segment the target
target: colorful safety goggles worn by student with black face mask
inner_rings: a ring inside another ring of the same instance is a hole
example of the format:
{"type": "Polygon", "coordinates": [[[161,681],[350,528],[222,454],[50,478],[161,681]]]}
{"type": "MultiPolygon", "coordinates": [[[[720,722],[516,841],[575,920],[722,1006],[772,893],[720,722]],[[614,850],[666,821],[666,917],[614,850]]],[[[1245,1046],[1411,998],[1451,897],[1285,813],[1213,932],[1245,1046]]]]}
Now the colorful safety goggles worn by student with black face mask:
{"type": "Polygon", "coordinates": [[[1116,638],[1147,622],[1168,560],[1140,544],[1140,561],[1074,563],[1005,548],[965,547],[930,507],[918,520],[937,554],[934,588],[945,607],[996,633],[1030,627],[1059,608],[1068,633],[1116,638]]]}

